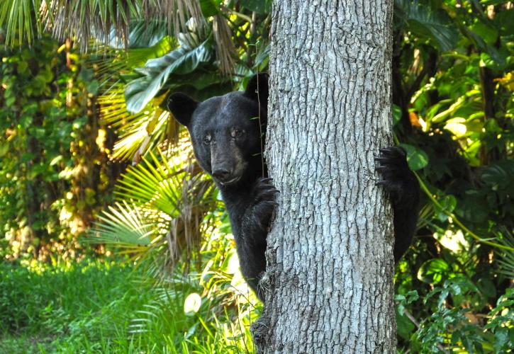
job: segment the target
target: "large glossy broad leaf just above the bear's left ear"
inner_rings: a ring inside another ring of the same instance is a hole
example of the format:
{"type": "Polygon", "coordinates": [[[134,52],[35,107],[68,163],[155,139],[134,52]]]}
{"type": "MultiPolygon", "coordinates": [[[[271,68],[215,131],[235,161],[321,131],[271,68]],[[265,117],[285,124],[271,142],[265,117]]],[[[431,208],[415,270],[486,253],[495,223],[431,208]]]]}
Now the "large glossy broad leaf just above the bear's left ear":
{"type": "Polygon", "coordinates": [[[164,57],[150,59],[145,67],[136,69],[143,76],[125,87],[125,102],[130,113],[139,113],[167,84],[170,74],[184,75],[213,58],[208,42],[198,47],[182,45],[164,57]]]}

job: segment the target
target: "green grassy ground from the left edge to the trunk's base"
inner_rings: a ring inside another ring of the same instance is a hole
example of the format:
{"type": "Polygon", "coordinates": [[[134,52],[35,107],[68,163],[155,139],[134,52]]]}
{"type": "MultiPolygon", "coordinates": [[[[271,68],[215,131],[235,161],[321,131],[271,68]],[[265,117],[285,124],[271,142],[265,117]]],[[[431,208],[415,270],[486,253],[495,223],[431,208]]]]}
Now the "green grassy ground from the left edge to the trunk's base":
{"type": "Polygon", "coordinates": [[[0,263],[0,353],[254,351],[258,309],[231,295],[230,278],[216,278],[220,297],[191,278],[160,288],[140,279],[107,261],[0,263]]]}

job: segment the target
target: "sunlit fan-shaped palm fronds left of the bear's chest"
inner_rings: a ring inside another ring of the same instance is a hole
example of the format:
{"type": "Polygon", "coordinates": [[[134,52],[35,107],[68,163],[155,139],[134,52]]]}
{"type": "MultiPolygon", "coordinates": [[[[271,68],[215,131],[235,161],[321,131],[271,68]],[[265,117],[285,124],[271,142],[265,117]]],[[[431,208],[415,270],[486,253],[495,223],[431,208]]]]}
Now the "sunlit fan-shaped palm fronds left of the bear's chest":
{"type": "Polygon", "coordinates": [[[117,185],[118,203],[93,230],[96,241],[147,260],[147,272],[155,277],[181,256],[189,261],[200,249],[201,234],[213,227],[206,216],[217,207],[216,190],[187,156],[190,148],[181,154],[150,153],[130,167],[117,185]]]}

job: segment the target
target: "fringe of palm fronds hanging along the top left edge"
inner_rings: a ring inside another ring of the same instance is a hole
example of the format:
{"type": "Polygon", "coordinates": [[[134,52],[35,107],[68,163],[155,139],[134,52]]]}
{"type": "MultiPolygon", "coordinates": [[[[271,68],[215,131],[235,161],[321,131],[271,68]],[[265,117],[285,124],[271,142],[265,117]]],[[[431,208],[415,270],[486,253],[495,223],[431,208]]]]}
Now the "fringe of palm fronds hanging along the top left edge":
{"type": "Polygon", "coordinates": [[[0,1],[0,27],[6,28],[7,43],[29,44],[43,32],[59,40],[74,38],[82,50],[89,40],[121,41],[128,48],[133,19],[159,20],[176,35],[192,18],[199,33],[205,33],[206,20],[199,0],[12,0],[0,1]]]}

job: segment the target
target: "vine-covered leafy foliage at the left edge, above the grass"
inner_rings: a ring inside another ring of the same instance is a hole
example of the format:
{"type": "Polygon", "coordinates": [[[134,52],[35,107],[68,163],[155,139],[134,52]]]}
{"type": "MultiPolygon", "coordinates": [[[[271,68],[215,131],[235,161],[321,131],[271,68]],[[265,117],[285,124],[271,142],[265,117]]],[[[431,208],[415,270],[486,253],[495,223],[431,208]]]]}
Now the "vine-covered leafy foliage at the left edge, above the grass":
{"type": "Polygon", "coordinates": [[[57,240],[74,253],[112,183],[96,142],[105,131],[88,113],[98,81],[48,38],[0,45],[0,57],[0,235],[14,255],[43,256],[57,240]]]}

